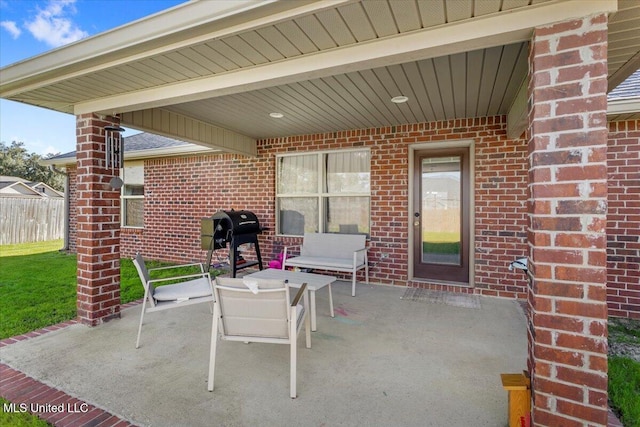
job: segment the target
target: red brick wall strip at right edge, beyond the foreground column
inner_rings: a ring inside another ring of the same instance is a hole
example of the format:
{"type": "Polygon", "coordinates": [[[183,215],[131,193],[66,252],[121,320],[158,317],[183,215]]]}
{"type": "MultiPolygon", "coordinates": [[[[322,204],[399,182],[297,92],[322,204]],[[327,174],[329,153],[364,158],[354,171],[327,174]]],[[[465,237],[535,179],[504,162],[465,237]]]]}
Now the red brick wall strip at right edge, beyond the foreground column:
{"type": "Polygon", "coordinates": [[[609,124],[607,302],[640,319],[640,120],[609,124]]]}

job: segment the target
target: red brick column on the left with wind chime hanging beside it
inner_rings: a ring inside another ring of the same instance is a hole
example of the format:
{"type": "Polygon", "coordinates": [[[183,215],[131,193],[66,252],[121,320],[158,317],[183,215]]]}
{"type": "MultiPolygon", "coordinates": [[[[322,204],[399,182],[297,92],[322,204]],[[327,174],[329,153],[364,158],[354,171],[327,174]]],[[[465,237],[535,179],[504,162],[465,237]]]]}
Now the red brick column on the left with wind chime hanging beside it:
{"type": "Polygon", "coordinates": [[[120,190],[109,185],[104,127],[95,114],[76,118],[78,320],[95,326],[120,317],[120,190]]]}

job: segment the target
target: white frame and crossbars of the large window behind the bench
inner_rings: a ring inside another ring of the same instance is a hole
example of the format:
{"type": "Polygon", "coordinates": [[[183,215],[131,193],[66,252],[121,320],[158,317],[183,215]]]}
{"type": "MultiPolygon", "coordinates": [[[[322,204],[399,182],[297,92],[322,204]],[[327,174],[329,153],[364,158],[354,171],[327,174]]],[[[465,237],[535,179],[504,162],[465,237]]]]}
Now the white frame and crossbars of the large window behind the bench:
{"type": "Polygon", "coordinates": [[[323,150],[323,151],[301,151],[297,153],[288,153],[288,154],[276,154],[276,185],[275,185],[275,219],[276,219],[276,235],[277,236],[290,236],[290,237],[299,237],[298,235],[291,234],[283,234],[280,230],[280,198],[317,198],[318,200],[318,233],[327,233],[325,230],[326,224],[326,212],[325,212],[325,204],[324,200],[329,197],[366,197],[369,199],[369,231],[367,235],[370,234],[371,230],[371,150],[369,148],[353,148],[353,149],[342,149],[342,150],[323,150]],[[327,168],[325,167],[324,159],[328,154],[332,153],[347,153],[347,152],[368,152],[369,153],[369,191],[368,192],[355,192],[355,193],[330,193],[328,191],[324,191],[324,183],[327,179],[327,168]],[[280,159],[283,157],[295,157],[295,156],[310,156],[315,155],[317,157],[318,162],[318,182],[316,184],[316,192],[315,193],[278,193],[278,177],[280,176],[280,159]]]}

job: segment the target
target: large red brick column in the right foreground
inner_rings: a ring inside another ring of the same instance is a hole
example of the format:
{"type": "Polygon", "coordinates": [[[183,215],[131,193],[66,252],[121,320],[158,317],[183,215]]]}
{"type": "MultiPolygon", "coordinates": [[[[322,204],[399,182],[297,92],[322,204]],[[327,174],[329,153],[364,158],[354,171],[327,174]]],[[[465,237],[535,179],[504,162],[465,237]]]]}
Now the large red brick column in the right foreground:
{"type": "Polygon", "coordinates": [[[529,369],[536,426],[607,424],[607,17],[534,31],[529,369]]]}

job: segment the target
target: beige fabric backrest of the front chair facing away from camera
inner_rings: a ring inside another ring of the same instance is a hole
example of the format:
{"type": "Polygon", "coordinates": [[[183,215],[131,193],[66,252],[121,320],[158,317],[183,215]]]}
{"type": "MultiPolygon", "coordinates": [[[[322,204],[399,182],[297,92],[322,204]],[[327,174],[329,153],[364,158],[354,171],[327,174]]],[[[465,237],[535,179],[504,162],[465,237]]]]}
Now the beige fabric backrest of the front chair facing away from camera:
{"type": "Polygon", "coordinates": [[[288,340],[289,286],[283,280],[257,279],[257,291],[243,279],[217,277],[215,303],[221,312],[223,336],[288,340]]]}

